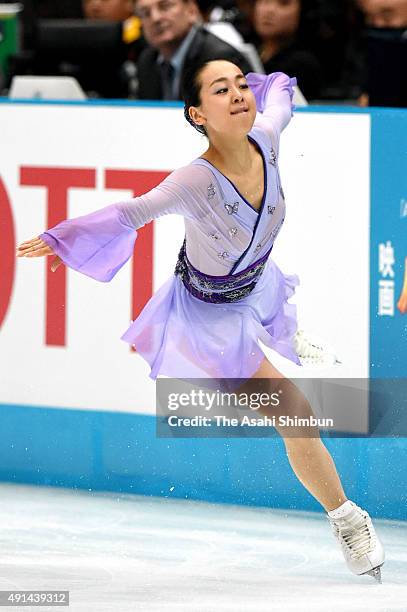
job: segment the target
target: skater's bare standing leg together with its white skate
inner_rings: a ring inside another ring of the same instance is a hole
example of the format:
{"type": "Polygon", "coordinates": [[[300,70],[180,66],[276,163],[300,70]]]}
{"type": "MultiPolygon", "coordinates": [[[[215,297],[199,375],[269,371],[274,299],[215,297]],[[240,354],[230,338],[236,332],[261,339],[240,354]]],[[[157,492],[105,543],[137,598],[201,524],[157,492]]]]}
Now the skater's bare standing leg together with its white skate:
{"type": "Polygon", "coordinates": [[[312,410],[303,393],[264,359],[255,376],[237,392],[276,393],[283,401],[279,406],[261,408],[266,416],[275,416],[276,429],[282,436],[288,460],[299,481],[329,512],[328,518],[348,568],[354,574],[369,574],[381,582],[380,567],[384,549],[366,511],[348,500],[331,455],[316,427],[287,428],[278,425],[278,417],[310,417],[312,410]],[[336,513],[331,513],[336,510],[336,513]]]}

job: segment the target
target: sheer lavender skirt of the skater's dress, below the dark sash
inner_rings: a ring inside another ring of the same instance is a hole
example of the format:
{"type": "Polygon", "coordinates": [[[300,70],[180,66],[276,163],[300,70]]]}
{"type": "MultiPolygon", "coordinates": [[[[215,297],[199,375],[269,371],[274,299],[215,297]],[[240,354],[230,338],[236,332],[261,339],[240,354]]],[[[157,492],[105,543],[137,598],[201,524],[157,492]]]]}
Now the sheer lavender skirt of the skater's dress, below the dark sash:
{"type": "Polygon", "coordinates": [[[269,259],[246,298],[209,304],[172,276],[121,339],[149,363],[153,379],[248,379],[264,359],[259,340],[301,365],[294,348],[297,308],[288,303],[298,284],[298,276],[283,274],[269,259]]]}

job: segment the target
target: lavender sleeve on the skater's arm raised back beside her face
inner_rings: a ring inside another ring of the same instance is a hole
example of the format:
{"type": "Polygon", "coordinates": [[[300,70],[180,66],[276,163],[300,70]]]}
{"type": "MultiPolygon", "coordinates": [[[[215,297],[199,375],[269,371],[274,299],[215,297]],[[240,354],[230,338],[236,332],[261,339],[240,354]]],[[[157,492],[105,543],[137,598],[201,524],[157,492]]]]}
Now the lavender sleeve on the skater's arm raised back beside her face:
{"type": "Polygon", "coordinates": [[[297,79],[290,78],[284,72],[269,75],[249,72],[246,79],[256,98],[258,113],[254,127],[267,132],[278,155],[280,134],[295,110],[292,99],[297,79]]]}

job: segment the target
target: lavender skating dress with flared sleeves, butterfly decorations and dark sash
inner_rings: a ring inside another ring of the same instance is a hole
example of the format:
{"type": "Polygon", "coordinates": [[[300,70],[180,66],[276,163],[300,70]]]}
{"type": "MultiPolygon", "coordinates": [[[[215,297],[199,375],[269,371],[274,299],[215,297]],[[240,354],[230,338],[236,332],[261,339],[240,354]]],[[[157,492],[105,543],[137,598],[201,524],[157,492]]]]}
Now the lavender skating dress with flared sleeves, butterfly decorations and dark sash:
{"type": "Polygon", "coordinates": [[[147,360],[153,379],[249,378],[264,359],[258,340],[301,365],[296,306],[287,301],[299,280],[269,257],[285,216],[277,158],[295,79],[250,73],[247,81],[258,110],[249,138],[264,164],[259,211],[198,158],[141,197],[63,221],[40,236],[67,266],[107,282],[133,254],[135,230],[161,215],[184,217],[174,275],[122,336],[147,360]]]}

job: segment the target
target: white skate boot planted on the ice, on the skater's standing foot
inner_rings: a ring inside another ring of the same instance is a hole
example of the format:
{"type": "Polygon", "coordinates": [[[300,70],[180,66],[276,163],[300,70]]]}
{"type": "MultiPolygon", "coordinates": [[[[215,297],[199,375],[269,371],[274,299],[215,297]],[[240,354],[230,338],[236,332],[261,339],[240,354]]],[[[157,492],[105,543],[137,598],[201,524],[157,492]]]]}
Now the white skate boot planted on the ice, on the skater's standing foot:
{"type": "Polygon", "coordinates": [[[384,550],[366,510],[347,500],[327,518],[350,571],[359,576],[369,574],[381,582],[384,550]]]}

